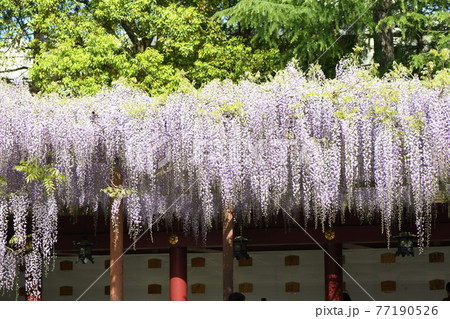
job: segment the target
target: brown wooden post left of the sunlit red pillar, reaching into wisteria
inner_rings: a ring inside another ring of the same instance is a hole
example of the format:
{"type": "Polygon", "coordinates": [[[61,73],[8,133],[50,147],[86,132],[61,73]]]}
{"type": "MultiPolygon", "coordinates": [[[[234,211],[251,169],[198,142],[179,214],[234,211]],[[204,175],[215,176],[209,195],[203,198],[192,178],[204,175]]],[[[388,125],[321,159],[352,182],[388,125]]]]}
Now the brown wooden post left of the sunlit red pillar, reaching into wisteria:
{"type": "MultiPolygon", "coordinates": [[[[115,186],[120,186],[123,183],[122,174],[119,167],[114,167],[112,181],[115,186]]],[[[113,199],[111,200],[111,204],[113,199]]],[[[110,300],[123,300],[123,201],[120,201],[119,213],[117,216],[117,225],[113,225],[112,218],[110,221],[109,230],[109,247],[110,247],[110,300]]]]}

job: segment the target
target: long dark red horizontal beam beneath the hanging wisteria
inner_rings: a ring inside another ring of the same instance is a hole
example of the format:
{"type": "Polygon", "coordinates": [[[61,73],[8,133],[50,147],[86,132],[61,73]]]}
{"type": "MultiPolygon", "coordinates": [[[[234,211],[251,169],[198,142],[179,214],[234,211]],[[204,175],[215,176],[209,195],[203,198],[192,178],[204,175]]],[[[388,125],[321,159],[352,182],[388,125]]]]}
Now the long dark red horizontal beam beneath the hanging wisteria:
{"type": "MultiPolygon", "coordinates": [[[[448,205],[439,204],[436,206],[436,219],[431,228],[431,241],[450,241],[450,218],[448,214],[448,205]]],[[[290,225],[290,228],[279,227],[285,225],[283,214],[278,214],[273,218],[269,225],[269,229],[261,228],[244,228],[243,235],[250,238],[249,247],[251,246],[283,246],[283,245],[305,245],[314,244],[314,241],[305,234],[305,232],[296,225],[290,225]],[[275,220],[277,219],[277,220],[275,220]]],[[[109,225],[100,216],[98,221],[94,223],[93,216],[79,215],[77,217],[59,216],[58,218],[58,243],[56,249],[58,251],[75,252],[76,248],[72,245],[72,241],[79,241],[83,235],[88,234],[88,239],[95,241],[94,250],[108,250],[109,247],[109,225]],[[94,225],[96,227],[94,228],[94,225]],[[89,236],[89,234],[92,234],[89,236]],[[96,234],[94,236],[94,234],[96,234]]],[[[300,223],[303,225],[303,223],[300,223]]],[[[176,225],[175,225],[176,226],[176,225]]],[[[125,226],[126,227],[126,226],[125,226]]],[[[153,241],[149,235],[144,235],[136,245],[136,249],[169,249],[168,236],[172,234],[165,231],[166,227],[161,224],[159,232],[153,232],[153,241]]],[[[177,227],[174,227],[177,230],[177,227]]],[[[361,225],[355,216],[346,216],[346,224],[339,224],[333,227],[336,232],[336,239],[342,243],[386,243],[386,235],[381,231],[380,225],[361,225]]],[[[126,231],[126,230],[125,230],[126,231]]],[[[321,229],[308,227],[306,231],[318,242],[324,243],[325,239],[321,229]]],[[[410,231],[413,231],[411,229],[410,231]]],[[[395,234],[395,230],[392,231],[395,234]]],[[[211,230],[207,234],[207,241],[203,243],[200,238],[192,235],[186,235],[183,232],[175,232],[180,240],[180,245],[185,247],[222,247],[222,229],[211,230]]],[[[124,247],[129,247],[132,240],[128,236],[124,236],[124,247]]]]}

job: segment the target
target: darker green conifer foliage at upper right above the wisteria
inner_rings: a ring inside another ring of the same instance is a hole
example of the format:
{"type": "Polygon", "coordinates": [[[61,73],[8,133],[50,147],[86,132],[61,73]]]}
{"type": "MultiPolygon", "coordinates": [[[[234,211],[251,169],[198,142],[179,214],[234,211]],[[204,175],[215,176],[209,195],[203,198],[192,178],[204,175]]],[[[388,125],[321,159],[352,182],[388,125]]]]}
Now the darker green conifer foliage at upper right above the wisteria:
{"type": "Polygon", "coordinates": [[[240,0],[215,16],[258,47],[278,48],[280,62],[296,57],[307,68],[319,60],[334,76],[355,45],[374,49],[382,74],[394,61],[415,71],[428,62],[433,71],[448,67],[449,9],[442,0],[240,0]]]}

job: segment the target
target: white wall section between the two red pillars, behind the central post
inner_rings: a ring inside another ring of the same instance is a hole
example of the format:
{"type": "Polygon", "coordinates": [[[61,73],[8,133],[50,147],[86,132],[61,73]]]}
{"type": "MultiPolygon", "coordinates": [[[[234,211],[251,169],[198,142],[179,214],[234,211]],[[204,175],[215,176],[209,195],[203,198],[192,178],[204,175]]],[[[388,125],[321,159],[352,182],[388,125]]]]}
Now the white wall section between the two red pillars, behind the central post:
{"type": "MultiPolygon", "coordinates": [[[[324,296],[323,254],[320,251],[251,252],[253,265],[239,267],[234,260],[234,289],[240,283],[252,283],[253,292],[245,293],[246,300],[322,300],[324,296]],[[284,266],[288,255],[299,255],[299,266],[284,266]],[[299,293],[285,293],[286,282],[300,282],[299,293]]],[[[206,284],[205,295],[191,294],[189,300],[222,300],[222,254],[189,254],[204,257],[205,268],[188,264],[188,284],[206,284]]]]}

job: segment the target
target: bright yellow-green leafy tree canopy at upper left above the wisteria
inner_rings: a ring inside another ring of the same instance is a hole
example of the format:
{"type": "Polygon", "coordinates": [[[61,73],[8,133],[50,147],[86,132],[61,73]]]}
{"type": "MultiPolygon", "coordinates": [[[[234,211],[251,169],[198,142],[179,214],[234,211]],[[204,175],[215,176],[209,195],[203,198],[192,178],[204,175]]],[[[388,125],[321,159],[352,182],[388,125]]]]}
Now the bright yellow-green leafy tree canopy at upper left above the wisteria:
{"type": "Polygon", "coordinates": [[[2,0],[4,46],[28,49],[42,92],[92,94],[120,78],[151,94],[273,71],[276,50],[230,37],[201,3],[2,0]]]}

